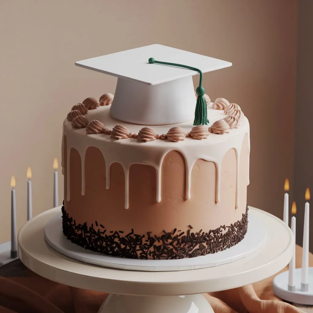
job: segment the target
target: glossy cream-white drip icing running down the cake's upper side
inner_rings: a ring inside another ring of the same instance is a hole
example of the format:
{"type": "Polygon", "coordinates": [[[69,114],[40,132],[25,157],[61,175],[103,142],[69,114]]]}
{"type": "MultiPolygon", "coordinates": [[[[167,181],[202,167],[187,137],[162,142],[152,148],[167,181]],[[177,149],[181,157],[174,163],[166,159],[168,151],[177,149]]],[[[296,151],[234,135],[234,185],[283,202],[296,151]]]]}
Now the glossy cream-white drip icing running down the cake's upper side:
{"type": "MultiPolygon", "coordinates": [[[[106,108],[106,107],[104,107],[106,108]]],[[[102,108],[101,108],[102,109],[102,108]]],[[[100,108],[97,110],[100,111],[100,108]]],[[[97,111],[94,110],[94,111],[97,111]]],[[[214,110],[217,112],[218,110],[214,110]]],[[[89,114],[88,111],[87,114],[89,114]]],[[[108,112],[108,111],[107,111],[108,112]]],[[[95,115],[92,112],[92,115],[95,115]]],[[[223,112],[222,112],[223,113],[223,112]]],[[[219,115],[223,115],[218,111],[219,115]]],[[[216,115],[216,114],[215,114],[216,115]]],[[[218,115],[218,119],[220,116],[218,115]]],[[[87,116],[89,119],[90,117],[87,116]]],[[[105,117],[105,116],[103,116],[105,117]]],[[[98,117],[99,119],[99,117],[98,117]]],[[[103,118],[100,119],[103,121],[103,118]]],[[[212,118],[210,120],[213,121],[212,118]]],[[[115,121],[112,121],[115,123],[115,121]]],[[[104,121],[104,124],[107,127],[107,121],[104,121]]],[[[192,122],[186,122],[180,124],[180,126],[185,126],[187,124],[192,125],[192,122]],[[187,124],[188,123],[188,124],[187,124]]],[[[136,132],[137,129],[140,129],[139,125],[127,124],[125,123],[130,131],[136,132]],[[131,129],[131,127],[133,129],[131,129]]],[[[161,126],[153,126],[160,127],[161,126]]],[[[170,125],[163,126],[163,128],[170,128],[170,125]]],[[[67,138],[67,201],[70,200],[70,174],[69,174],[69,160],[70,160],[70,151],[71,148],[74,148],[80,154],[81,162],[82,162],[82,195],[85,194],[85,153],[89,146],[94,146],[98,148],[104,159],[106,164],[106,189],[110,188],[110,166],[112,163],[120,163],[124,169],[125,173],[125,208],[129,208],[129,171],[132,164],[144,164],[150,165],[156,169],[156,201],[161,201],[161,169],[164,157],[170,151],[178,151],[182,153],[185,158],[185,166],[186,166],[186,198],[190,199],[191,197],[191,173],[194,163],[198,159],[203,159],[205,161],[214,162],[216,166],[216,192],[215,198],[216,203],[220,202],[220,175],[221,175],[221,164],[223,157],[226,152],[230,149],[235,150],[236,154],[236,208],[239,208],[239,163],[240,163],[240,153],[242,144],[244,141],[245,134],[248,135],[248,155],[250,154],[250,136],[249,136],[249,122],[244,117],[242,125],[239,129],[233,129],[229,131],[229,134],[211,134],[207,141],[201,142],[196,141],[192,138],[186,138],[185,141],[180,141],[177,143],[169,143],[156,140],[148,143],[144,143],[142,145],[138,145],[138,143],[132,138],[124,139],[121,141],[116,141],[105,134],[93,134],[86,135],[84,130],[75,129],[73,130],[70,127],[70,123],[65,120],[64,121],[64,135],[67,138]],[[93,139],[93,140],[91,140],[93,139]],[[218,149],[216,149],[216,144],[218,144],[218,149]],[[134,145],[137,148],[134,148],[134,145]],[[151,154],[151,146],[154,146],[153,154],[151,154]],[[238,192],[237,192],[238,191],[238,192]]],[[[190,128],[191,129],[191,128],[190,128]]],[[[189,131],[190,131],[189,129],[189,131]]],[[[188,130],[186,129],[186,132],[188,130]]],[[[166,133],[166,131],[157,131],[158,133],[166,133]]],[[[64,143],[62,144],[62,146],[64,143]]],[[[64,147],[63,147],[64,150],[64,147]]],[[[62,152],[62,163],[64,158],[64,151],[62,152]]],[[[248,157],[249,162],[249,157],[248,157]]],[[[249,184],[249,167],[248,167],[248,184],[249,184]]]]}

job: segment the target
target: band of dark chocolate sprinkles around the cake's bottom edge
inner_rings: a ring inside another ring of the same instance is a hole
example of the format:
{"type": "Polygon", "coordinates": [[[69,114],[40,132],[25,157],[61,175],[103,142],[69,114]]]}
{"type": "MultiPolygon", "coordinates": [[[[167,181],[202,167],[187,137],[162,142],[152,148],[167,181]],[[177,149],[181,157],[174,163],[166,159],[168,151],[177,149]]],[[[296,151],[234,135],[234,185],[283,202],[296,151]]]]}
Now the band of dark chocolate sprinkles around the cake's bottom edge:
{"type": "MultiPolygon", "coordinates": [[[[97,225],[97,222],[95,222],[97,225]]],[[[78,224],[69,217],[62,206],[62,227],[67,239],[85,249],[99,252],[106,255],[124,257],[129,259],[182,259],[194,258],[200,255],[216,253],[239,243],[247,232],[248,227],[248,206],[246,213],[242,214],[240,221],[230,226],[220,226],[207,233],[190,232],[187,230],[175,235],[173,232],[166,232],[161,236],[138,235],[131,230],[131,233],[121,237],[123,231],[110,231],[105,234],[105,227],[100,224],[103,231],[88,227],[87,223],[78,224]]],[[[189,227],[191,227],[189,225],[189,227]]],[[[179,230],[180,231],[180,230],[179,230]]],[[[179,232],[178,231],[178,232],[179,232]]]]}

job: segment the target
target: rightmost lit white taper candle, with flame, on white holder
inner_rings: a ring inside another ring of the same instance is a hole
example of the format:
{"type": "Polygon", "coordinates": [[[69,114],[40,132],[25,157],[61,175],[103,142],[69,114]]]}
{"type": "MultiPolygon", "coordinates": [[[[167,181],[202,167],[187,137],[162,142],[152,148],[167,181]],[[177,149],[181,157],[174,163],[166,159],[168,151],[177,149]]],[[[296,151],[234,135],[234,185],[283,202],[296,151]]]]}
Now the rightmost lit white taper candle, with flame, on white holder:
{"type": "MultiPolygon", "coordinates": [[[[310,200],[310,190],[306,188],[305,200],[310,200]]],[[[303,245],[302,245],[302,273],[301,291],[309,290],[309,230],[310,230],[310,204],[305,203],[304,225],[303,225],[303,245]]]]}

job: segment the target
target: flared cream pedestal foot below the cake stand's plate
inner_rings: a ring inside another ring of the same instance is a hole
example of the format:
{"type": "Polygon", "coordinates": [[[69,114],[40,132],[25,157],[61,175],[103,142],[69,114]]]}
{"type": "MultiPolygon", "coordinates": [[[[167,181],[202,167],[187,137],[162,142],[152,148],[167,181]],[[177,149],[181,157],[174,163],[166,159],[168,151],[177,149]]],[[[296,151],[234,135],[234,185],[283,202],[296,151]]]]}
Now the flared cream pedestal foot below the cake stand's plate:
{"type": "Polygon", "coordinates": [[[132,296],[109,295],[98,313],[214,313],[203,295],[132,296]]]}

